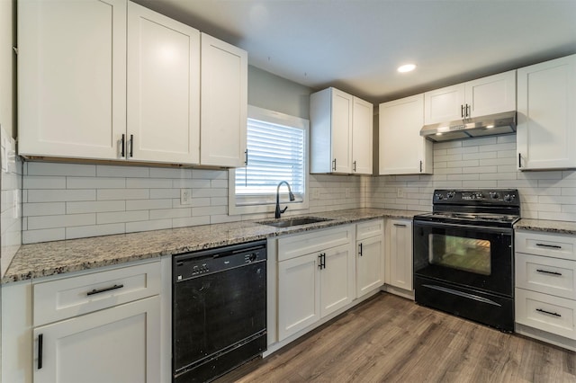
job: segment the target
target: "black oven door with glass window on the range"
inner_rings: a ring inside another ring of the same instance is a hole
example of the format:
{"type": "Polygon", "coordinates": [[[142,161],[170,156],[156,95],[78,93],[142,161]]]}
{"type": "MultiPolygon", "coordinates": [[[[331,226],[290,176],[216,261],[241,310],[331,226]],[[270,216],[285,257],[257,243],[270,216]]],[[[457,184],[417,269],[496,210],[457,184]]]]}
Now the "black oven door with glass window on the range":
{"type": "Polygon", "coordinates": [[[414,220],[414,275],[513,296],[513,230],[414,220]]]}

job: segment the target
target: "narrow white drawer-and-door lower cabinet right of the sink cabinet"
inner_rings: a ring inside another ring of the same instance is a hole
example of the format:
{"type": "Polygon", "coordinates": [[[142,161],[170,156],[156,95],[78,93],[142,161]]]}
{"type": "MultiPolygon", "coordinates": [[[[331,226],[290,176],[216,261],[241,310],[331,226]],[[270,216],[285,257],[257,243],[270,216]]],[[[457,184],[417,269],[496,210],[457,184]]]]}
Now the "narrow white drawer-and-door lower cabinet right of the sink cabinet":
{"type": "Polygon", "coordinates": [[[356,298],[384,284],[384,221],[356,225],[356,298]]]}

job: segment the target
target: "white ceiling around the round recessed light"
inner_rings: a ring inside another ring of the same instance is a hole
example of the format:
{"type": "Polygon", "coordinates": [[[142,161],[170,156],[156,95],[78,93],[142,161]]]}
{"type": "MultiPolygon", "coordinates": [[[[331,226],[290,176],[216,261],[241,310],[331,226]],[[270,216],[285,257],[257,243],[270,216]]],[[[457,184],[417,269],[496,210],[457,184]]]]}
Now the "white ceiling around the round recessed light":
{"type": "Polygon", "coordinates": [[[371,102],[576,53],[576,0],[136,2],[246,49],[254,67],[371,102]]]}

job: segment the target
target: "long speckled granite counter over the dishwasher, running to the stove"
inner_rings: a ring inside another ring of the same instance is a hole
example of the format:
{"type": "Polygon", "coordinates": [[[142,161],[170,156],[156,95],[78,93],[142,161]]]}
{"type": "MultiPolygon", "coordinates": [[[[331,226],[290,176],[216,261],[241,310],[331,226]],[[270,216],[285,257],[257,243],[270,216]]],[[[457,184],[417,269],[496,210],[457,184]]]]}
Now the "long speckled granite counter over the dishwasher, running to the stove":
{"type": "Polygon", "coordinates": [[[419,213],[391,209],[348,209],[309,214],[307,216],[331,220],[297,227],[276,228],[260,225],[257,221],[239,221],[23,245],[15,254],[2,283],[256,241],[371,218],[411,219],[419,213]]]}

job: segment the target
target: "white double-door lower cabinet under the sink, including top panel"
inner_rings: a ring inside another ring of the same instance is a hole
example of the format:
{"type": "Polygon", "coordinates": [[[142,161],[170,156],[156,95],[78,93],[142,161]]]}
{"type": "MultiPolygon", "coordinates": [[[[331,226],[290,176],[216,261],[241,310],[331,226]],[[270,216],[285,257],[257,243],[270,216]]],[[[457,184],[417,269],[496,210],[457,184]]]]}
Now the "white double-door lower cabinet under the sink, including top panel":
{"type": "Polygon", "coordinates": [[[355,298],[353,226],[278,240],[278,340],[355,298]]]}

